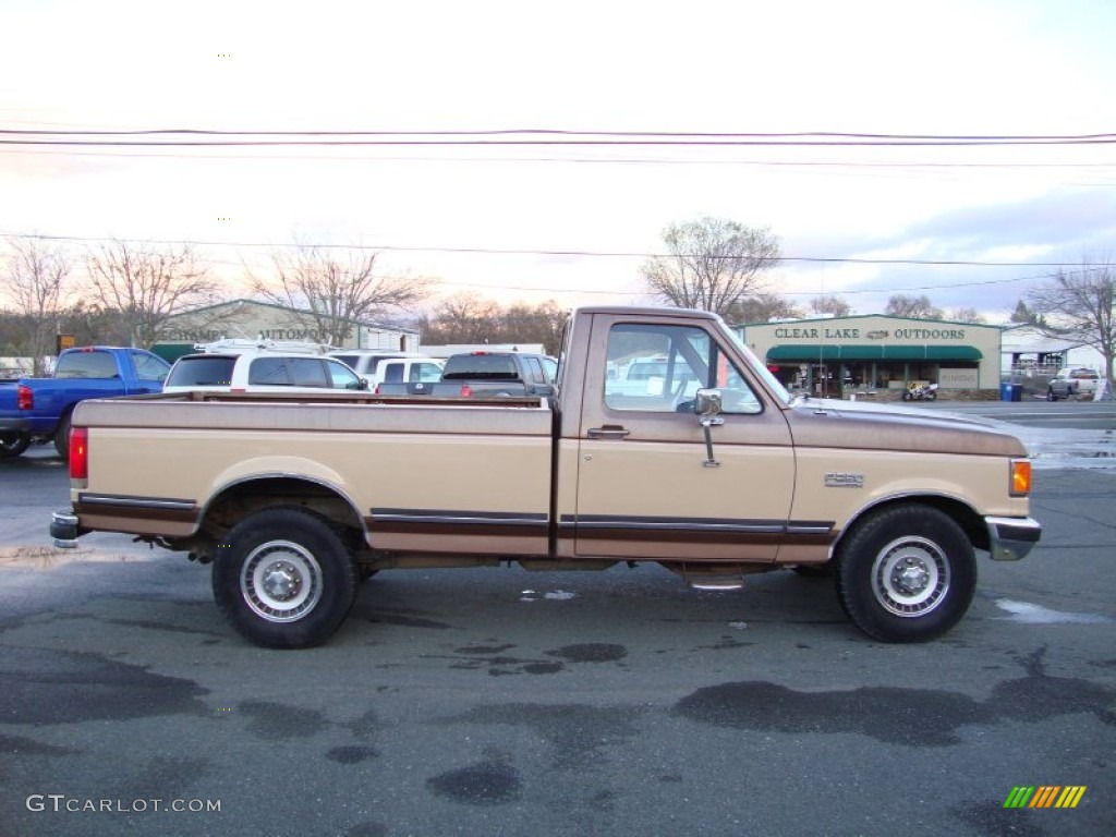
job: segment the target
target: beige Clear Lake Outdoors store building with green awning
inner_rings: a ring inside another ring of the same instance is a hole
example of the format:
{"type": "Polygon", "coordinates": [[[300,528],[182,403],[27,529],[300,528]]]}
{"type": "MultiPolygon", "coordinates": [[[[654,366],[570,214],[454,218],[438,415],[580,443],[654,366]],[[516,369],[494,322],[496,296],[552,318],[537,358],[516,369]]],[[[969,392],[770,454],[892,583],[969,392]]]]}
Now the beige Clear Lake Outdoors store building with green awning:
{"type": "Polygon", "coordinates": [[[1000,326],[863,315],[737,329],[792,392],[883,400],[937,384],[943,400],[1000,397],[1000,326]]]}

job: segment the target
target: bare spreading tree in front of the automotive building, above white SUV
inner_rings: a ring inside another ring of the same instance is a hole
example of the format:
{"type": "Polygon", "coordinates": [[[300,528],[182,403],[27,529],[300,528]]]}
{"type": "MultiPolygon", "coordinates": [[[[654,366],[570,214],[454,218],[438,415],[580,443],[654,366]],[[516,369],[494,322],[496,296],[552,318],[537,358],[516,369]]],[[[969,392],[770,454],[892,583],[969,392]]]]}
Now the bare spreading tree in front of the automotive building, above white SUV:
{"type": "Polygon", "coordinates": [[[382,273],[378,256],[299,246],[272,252],[273,277],[249,275],[249,280],[254,294],[292,309],[324,343],[339,346],[354,323],[405,310],[430,294],[427,279],[382,273]]]}

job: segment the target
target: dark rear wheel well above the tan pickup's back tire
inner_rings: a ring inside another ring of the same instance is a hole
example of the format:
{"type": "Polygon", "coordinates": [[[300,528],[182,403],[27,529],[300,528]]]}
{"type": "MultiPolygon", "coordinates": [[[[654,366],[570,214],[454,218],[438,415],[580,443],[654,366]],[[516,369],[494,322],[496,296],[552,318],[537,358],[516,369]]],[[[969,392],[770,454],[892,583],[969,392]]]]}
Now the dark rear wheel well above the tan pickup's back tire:
{"type": "Polygon", "coordinates": [[[364,522],[348,498],[330,485],[291,477],[261,477],[229,485],[202,512],[202,528],[220,538],[249,514],[276,506],[314,512],[333,523],[354,548],[364,541],[364,522]]]}

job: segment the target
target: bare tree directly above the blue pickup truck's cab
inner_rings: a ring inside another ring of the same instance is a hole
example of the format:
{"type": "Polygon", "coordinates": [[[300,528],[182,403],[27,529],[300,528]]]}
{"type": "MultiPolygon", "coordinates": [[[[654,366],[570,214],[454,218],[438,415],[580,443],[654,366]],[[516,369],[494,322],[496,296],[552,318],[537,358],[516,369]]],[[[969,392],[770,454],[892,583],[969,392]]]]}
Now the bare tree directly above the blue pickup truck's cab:
{"type": "Polygon", "coordinates": [[[189,244],[166,249],[112,241],[86,260],[94,301],[115,311],[133,346],[156,343],[166,320],[217,301],[218,286],[189,244]]]}

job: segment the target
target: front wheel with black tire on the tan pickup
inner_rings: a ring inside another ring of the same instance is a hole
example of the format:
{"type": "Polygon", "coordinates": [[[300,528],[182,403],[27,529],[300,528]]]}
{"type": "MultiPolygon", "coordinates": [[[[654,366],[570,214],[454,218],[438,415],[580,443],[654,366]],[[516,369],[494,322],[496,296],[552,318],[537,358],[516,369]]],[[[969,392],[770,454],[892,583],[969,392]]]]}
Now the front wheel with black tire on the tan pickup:
{"type": "Polygon", "coordinates": [[[905,503],[870,513],[841,541],[837,596],[849,619],[888,643],[952,628],[977,590],[973,546],[945,512],[905,503]]]}

